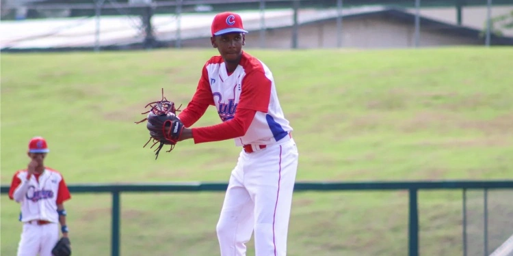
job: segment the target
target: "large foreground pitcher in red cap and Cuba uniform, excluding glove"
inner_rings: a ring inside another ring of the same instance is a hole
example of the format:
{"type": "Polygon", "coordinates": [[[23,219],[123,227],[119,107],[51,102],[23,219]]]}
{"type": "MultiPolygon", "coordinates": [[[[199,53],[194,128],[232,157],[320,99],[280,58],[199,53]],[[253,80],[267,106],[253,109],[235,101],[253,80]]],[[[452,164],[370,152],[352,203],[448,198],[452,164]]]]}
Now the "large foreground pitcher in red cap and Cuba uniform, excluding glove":
{"type": "Polygon", "coordinates": [[[271,70],[242,51],[246,33],[238,14],[213,19],[211,44],[220,56],[205,63],[196,93],[179,115],[185,126],[179,141],[234,139],[242,147],[217,225],[221,255],[246,255],[254,232],[257,256],[285,256],[298,149],[271,70]],[[222,124],[189,128],[210,105],[222,124]]]}

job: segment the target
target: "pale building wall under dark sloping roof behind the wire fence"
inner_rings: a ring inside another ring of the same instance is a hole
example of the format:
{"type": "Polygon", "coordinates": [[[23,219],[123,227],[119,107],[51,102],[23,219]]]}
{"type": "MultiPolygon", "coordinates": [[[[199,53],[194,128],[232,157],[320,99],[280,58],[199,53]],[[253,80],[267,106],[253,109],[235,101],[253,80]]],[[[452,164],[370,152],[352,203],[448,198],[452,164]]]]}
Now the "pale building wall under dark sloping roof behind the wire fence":
{"type": "MultiPolygon", "coordinates": [[[[343,20],[343,46],[349,48],[404,48],[415,46],[415,27],[399,21],[374,16],[343,20]]],[[[269,29],[265,32],[265,48],[291,48],[292,29],[269,29]]],[[[211,46],[207,38],[183,40],[185,47],[211,46]]],[[[260,33],[246,35],[246,47],[260,47],[260,33]]],[[[421,25],[420,46],[482,44],[479,38],[464,38],[439,29],[421,25]]],[[[299,48],[337,47],[337,25],[334,20],[299,29],[299,48]]]]}

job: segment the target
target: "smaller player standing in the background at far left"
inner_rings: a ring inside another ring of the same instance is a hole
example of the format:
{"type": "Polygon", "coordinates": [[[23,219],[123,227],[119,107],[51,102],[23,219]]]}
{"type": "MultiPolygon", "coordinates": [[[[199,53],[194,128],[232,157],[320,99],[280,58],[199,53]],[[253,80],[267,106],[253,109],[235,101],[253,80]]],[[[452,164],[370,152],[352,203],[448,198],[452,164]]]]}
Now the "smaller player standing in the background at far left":
{"type": "Polygon", "coordinates": [[[49,148],[42,137],[29,142],[31,159],[27,169],[16,171],[12,177],[9,198],[21,203],[23,223],[18,256],[52,256],[52,248],[62,236],[68,237],[64,201],[71,198],[62,175],[44,166],[49,148]]]}

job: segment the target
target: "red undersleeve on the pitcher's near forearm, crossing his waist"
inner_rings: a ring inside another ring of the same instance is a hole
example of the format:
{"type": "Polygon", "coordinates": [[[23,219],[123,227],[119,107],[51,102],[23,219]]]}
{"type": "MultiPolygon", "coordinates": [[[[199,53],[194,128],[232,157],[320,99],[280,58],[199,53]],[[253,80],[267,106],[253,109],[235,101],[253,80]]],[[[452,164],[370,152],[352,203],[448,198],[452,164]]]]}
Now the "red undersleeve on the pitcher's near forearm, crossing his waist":
{"type": "Polygon", "coordinates": [[[215,126],[192,128],[194,143],[224,141],[244,136],[256,113],[257,111],[252,109],[239,109],[237,107],[235,117],[231,120],[215,126]]]}

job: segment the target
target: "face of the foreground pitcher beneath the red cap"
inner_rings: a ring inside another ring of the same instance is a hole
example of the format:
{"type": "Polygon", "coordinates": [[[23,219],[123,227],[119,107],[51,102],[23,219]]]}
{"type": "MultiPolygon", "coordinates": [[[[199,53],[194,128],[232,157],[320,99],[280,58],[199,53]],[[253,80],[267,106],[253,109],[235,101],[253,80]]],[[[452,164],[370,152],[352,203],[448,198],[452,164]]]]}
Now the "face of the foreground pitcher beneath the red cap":
{"type": "Polygon", "coordinates": [[[243,33],[226,33],[211,38],[212,46],[218,48],[219,53],[226,62],[238,62],[244,45],[243,33]]]}

